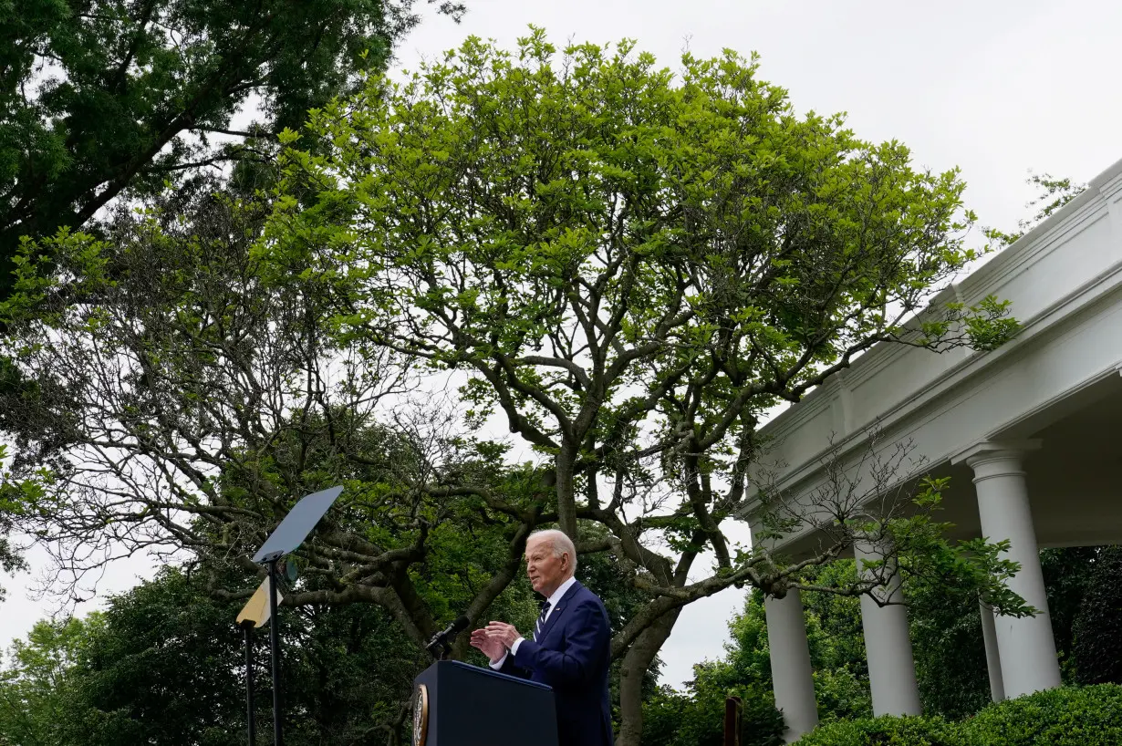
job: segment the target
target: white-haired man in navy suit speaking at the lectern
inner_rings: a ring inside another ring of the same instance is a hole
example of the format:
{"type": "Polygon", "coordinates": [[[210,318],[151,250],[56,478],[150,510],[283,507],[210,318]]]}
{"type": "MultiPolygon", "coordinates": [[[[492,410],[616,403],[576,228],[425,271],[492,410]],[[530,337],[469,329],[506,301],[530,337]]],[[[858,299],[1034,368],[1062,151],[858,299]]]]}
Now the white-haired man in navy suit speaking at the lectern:
{"type": "Polygon", "coordinates": [[[577,547],[563,532],[531,534],[526,574],[545,597],[534,634],[524,637],[514,625],[491,621],[471,633],[471,645],[493,669],[553,688],[558,746],[611,746],[611,628],[604,602],[577,582],[576,570],[577,547]]]}

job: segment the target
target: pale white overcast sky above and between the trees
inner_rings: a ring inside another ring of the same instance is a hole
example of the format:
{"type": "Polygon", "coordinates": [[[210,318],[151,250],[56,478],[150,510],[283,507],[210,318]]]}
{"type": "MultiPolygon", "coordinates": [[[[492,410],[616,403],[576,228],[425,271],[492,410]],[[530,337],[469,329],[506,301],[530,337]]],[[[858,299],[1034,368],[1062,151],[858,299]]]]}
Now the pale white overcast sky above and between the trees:
{"type": "MultiPolygon", "coordinates": [[[[864,139],[901,140],[920,166],[959,166],[967,204],[988,225],[1013,228],[1027,215],[1029,169],[1087,181],[1122,158],[1122,3],[467,2],[460,25],[426,12],[397,65],[415,68],[471,34],[513,47],[530,24],[559,46],[634,38],[671,68],[687,46],[696,56],[757,52],[762,77],[788,89],[800,111],[846,111],[864,139]]],[[[102,588],[120,590],[149,574],[122,565],[102,588]]],[[[27,597],[29,580],[0,580],[9,589],[0,641],[25,635],[45,614],[27,597]]],[[[729,590],[682,614],[663,652],[665,682],[680,684],[693,663],[721,654],[727,620],[742,602],[743,592],[729,590]]]]}

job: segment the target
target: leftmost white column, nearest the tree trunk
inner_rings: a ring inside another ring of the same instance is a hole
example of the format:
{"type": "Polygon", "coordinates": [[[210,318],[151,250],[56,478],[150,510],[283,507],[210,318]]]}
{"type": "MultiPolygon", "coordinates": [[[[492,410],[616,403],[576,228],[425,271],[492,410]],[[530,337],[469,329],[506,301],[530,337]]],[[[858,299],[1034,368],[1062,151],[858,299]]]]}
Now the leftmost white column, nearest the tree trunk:
{"type": "Polygon", "coordinates": [[[818,725],[818,701],[810,669],[802,599],[792,588],[783,598],[764,599],[775,707],[783,711],[784,743],[793,743],[818,725]]]}

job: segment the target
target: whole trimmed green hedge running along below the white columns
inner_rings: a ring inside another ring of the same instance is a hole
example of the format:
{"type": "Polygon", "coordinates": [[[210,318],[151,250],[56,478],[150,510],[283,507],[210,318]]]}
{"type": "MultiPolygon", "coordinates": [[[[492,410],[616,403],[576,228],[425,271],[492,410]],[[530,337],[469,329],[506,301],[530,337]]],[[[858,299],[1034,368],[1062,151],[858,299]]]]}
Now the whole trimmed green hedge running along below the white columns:
{"type": "Polygon", "coordinates": [[[991,704],[973,718],[829,722],[797,746],[1122,746],[1122,687],[1066,687],[991,704]]]}

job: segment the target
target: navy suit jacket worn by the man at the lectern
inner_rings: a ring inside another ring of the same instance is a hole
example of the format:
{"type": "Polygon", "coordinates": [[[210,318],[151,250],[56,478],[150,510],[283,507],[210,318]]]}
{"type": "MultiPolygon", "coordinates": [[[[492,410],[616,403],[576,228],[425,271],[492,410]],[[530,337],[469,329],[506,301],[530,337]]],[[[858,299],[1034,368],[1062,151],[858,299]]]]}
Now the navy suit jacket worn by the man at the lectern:
{"type": "Polygon", "coordinates": [[[558,746],[611,746],[610,664],[608,613],[596,593],[576,582],[545,620],[537,642],[524,638],[502,671],[553,688],[558,746]]]}

